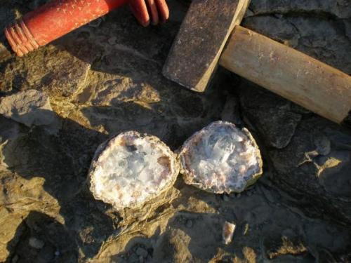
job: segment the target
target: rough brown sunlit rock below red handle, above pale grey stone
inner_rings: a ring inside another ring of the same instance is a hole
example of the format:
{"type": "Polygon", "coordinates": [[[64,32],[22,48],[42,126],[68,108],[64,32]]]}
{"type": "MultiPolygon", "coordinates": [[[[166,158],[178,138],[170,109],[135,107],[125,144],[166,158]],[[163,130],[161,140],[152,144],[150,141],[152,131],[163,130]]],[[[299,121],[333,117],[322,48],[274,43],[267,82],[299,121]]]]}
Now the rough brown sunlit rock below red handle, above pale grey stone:
{"type": "Polygon", "coordinates": [[[36,87],[50,96],[69,97],[84,84],[90,67],[89,62],[79,60],[66,50],[46,46],[0,67],[0,90],[36,87]]]}

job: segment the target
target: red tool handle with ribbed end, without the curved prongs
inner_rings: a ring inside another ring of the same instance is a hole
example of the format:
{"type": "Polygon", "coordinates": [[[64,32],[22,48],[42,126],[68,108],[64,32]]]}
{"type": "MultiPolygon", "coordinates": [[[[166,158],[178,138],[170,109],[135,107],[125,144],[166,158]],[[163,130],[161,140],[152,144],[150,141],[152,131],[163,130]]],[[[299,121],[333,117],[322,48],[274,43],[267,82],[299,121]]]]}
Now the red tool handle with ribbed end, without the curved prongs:
{"type": "Polygon", "coordinates": [[[18,56],[44,46],[126,4],[128,0],[54,0],[27,13],[5,29],[18,56]]]}

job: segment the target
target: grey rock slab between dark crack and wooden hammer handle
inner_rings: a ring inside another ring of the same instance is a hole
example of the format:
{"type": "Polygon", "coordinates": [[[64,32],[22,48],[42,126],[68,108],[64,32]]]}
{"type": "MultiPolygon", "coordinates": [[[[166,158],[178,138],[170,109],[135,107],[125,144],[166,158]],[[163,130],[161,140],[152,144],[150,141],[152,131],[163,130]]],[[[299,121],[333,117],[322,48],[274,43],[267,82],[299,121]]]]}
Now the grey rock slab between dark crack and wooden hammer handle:
{"type": "Polygon", "coordinates": [[[346,26],[345,35],[340,22],[316,16],[288,14],[277,18],[267,14],[246,18],[243,25],[350,74],[351,57],[345,54],[351,53],[347,36],[351,33],[346,26]]]}

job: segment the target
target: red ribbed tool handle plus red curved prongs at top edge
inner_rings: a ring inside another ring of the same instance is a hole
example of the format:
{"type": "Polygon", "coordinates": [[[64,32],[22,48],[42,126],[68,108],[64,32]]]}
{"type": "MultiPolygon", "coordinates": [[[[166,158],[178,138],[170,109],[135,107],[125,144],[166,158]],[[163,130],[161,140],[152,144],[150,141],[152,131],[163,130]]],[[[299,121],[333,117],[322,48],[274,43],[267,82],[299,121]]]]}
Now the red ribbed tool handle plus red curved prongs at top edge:
{"type": "Polygon", "coordinates": [[[124,4],[145,27],[168,18],[165,0],[52,0],[5,28],[8,43],[0,43],[0,62],[10,49],[22,57],[124,4]]]}

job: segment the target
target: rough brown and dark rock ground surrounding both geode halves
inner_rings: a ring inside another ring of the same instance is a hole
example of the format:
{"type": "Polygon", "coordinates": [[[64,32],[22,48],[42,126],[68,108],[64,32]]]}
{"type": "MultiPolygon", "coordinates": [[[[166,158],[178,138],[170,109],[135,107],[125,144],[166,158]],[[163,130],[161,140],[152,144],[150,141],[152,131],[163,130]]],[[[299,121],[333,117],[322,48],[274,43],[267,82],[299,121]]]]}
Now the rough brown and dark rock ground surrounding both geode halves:
{"type": "MultiPolygon", "coordinates": [[[[2,1],[1,28],[42,2],[2,1]]],[[[62,122],[55,136],[0,115],[0,261],[350,262],[350,131],[225,70],[205,94],[164,79],[186,9],[168,2],[161,27],[140,27],[124,8],[0,64],[1,97],[44,91],[62,122]],[[264,175],[252,189],[219,196],[179,178],[119,213],[91,196],[88,168],[109,137],[138,130],[175,150],[221,116],[260,146],[264,175]],[[226,221],[237,225],[229,245],[226,221]]],[[[349,3],[253,0],[244,25],[350,74],[349,3]]]]}

